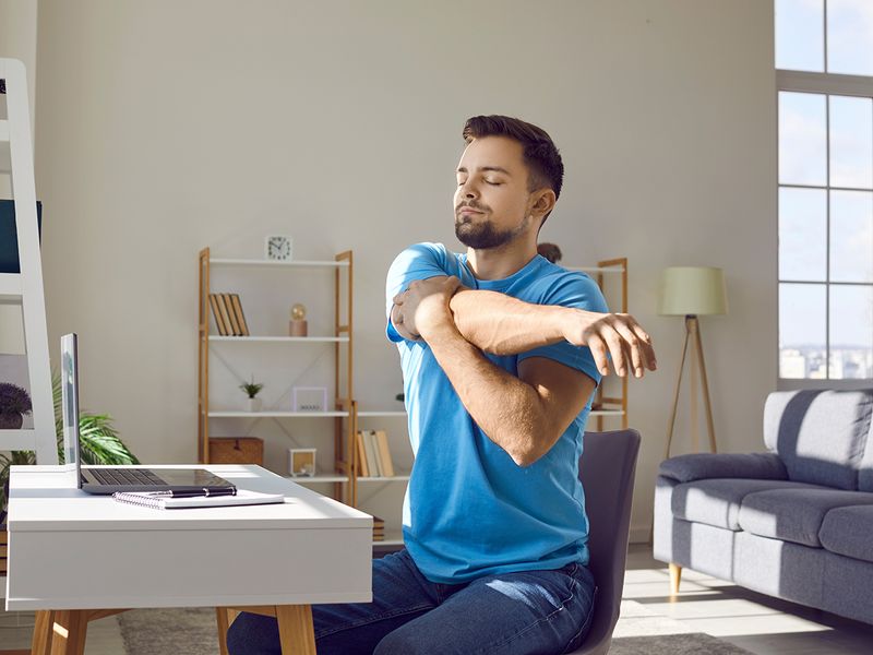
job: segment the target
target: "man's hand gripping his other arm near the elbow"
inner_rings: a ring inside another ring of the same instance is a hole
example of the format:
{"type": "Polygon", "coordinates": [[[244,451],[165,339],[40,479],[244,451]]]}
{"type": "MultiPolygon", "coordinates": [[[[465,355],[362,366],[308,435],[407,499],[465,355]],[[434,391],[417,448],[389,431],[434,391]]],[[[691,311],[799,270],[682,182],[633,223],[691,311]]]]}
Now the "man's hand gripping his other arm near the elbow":
{"type": "Polygon", "coordinates": [[[407,290],[394,296],[394,326],[404,336],[427,341],[429,330],[446,322],[454,324],[449,301],[459,287],[461,281],[454,276],[412,282],[407,290]]]}

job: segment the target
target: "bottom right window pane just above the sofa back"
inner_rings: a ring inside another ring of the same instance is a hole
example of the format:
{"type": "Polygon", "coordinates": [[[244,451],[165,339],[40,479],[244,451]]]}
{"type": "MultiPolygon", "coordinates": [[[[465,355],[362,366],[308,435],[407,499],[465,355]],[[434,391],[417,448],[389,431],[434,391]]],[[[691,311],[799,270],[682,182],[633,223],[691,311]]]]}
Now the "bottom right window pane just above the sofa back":
{"type": "Polygon", "coordinates": [[[873,378],[873,286],[830,287],[830,378],[873,378]]]}

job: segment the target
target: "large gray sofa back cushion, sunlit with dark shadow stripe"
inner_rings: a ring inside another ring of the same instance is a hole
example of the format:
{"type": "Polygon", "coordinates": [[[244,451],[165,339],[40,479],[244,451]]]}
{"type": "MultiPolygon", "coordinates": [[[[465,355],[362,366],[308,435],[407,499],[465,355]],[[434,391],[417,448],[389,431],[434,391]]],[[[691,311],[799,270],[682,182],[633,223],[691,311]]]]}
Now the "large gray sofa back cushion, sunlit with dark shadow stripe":
{"type": "Polygon", "coordinates": [[[872,417],[873,390],[776,392],[764,406],[764,443],[789,479],[857,489],[872,417]]]}

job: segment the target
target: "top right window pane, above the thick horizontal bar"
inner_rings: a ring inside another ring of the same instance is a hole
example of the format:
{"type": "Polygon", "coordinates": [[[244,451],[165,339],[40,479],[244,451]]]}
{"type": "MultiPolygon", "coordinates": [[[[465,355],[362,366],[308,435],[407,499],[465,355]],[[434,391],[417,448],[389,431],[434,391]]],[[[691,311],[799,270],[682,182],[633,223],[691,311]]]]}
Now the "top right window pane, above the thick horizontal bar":
{"type": "Polygon", "coordinates": [[[873,2],[827,1],[827,70],[873,75],[873,2]]]}

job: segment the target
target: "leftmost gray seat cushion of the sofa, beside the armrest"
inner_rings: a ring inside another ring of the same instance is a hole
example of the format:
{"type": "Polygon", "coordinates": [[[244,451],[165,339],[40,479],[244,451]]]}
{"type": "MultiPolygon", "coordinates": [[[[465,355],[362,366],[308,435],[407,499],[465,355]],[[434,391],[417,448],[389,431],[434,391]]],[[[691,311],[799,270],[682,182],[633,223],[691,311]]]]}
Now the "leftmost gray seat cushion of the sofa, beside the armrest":
{"type": "Polygon", "coordinates": [[[739,531],[738,516],[743,498],[766,489],[815,489],[813,485],[789,480],[713,478],[684,483],[673,488],[670,507],[673,516],[739,531]]]}

